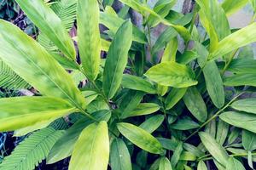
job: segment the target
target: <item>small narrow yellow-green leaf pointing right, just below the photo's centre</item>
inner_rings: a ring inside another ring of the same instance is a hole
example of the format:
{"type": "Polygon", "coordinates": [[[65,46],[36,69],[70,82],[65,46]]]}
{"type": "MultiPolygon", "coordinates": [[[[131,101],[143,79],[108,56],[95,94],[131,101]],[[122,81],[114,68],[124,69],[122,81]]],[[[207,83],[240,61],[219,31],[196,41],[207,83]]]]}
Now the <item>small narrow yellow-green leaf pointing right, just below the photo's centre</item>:
{"type": "Polygon", "coordinates": [[[127,112],[126,114],[122,114],[121,118],[149,115],[158,110],[160,110],[160,105],[154,103],[142,103],[137,105],[137,107],[133,111],[127,112]]]}

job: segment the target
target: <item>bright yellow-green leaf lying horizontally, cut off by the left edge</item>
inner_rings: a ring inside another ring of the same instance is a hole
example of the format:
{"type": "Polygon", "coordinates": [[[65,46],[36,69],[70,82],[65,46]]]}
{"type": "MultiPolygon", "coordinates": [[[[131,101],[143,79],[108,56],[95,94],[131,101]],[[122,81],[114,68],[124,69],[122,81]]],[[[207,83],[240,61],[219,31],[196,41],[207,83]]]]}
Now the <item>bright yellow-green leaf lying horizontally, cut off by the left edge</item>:
{"type": "Polygon", "coordinates": [[[15,97],[0,99],[0,131],[12,131],[66,116],[76,109],[63,99],[15,97]]]}

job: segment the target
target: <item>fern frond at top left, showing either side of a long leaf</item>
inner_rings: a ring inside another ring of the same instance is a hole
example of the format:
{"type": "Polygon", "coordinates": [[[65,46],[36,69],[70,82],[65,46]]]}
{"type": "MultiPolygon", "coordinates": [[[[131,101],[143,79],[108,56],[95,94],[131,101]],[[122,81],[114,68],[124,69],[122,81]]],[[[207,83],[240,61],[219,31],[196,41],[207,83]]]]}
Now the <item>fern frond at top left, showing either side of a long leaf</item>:
{"type": "MultiPolygon", "coordinates": [[[[76,20],[77,0],[61,0],[51,4],[50,8],[60,17],[62,25],[69,31],[76,20]]],[[[58,50],[55,44],[43,33],[38,35],[38,42],[49,51],[58,50]]]]}

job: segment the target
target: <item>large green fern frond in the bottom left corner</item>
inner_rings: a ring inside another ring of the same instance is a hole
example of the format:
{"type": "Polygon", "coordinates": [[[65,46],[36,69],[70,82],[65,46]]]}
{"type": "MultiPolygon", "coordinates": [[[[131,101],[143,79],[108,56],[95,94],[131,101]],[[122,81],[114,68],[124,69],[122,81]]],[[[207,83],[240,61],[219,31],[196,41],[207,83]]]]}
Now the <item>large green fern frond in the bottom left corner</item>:
{"type": "Polygon", "coordinates": [[[22,141],[10,156],[4,158],[0,170],[33,170],[49,154],[63,131],[46,127],[22,141]]]}

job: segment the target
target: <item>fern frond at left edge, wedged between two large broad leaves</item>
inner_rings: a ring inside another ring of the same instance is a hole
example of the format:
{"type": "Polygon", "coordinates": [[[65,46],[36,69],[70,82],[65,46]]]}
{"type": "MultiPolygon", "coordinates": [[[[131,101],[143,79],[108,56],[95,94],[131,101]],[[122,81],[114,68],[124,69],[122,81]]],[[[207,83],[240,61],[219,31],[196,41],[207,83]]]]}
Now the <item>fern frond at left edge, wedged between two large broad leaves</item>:
{"type": "Polygon", "coordinates": [[[0,60],[0,87],[18,90],[31,86],[0,60]]]}

